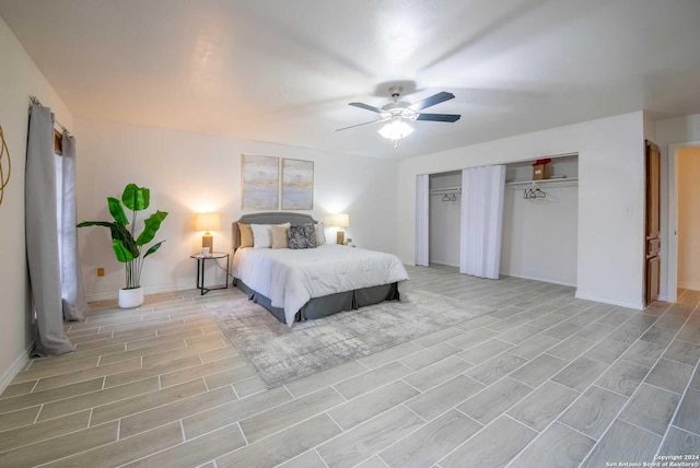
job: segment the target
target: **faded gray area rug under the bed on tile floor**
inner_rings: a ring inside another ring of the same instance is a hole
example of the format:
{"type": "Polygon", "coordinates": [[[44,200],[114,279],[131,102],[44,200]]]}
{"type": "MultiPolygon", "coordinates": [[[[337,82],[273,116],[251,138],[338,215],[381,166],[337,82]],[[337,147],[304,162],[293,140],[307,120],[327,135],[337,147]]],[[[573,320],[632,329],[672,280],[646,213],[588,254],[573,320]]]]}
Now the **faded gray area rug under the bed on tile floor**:
{"type": "Polygon", "coordinates": [[[268,388],[494,311],[422,290],[401,293],[400,302],[341,312],[292,328],[245,295],[208,304],[207,309],[268,388]]]}

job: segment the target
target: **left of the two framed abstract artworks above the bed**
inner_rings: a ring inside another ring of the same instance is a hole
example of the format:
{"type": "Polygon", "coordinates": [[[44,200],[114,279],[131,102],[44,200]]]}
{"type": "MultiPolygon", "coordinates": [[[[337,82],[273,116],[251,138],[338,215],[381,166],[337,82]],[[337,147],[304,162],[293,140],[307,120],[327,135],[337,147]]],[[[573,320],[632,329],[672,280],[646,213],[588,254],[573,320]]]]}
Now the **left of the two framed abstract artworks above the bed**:
{"type": "Polygon", "coordinates": [[[278,210],[280,190],[279,157],[243,154],[241,157],[241,208],[278,210]]]}

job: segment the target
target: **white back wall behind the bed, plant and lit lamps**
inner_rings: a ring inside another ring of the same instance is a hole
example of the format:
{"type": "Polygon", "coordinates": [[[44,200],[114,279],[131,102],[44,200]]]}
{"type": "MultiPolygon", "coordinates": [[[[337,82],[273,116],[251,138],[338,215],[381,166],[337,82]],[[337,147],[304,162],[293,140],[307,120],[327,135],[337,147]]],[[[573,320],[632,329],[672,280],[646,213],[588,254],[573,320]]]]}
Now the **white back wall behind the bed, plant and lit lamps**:
{"type": "MultiPolygon", "coordinates": [[[[358,247],[396,251],[397,163],[328,154],[302,148],[242,141],[183,131],[78,118],[78,219],[109,219],[106,197],[120,196],[128,183],[151,189],[152,209],[170,214],[156,239],[166,242],[147,259],[142,284],[148,292],[194,288],[201,233],[192,218],[221,213],[214,249],[229,251],[231,223],[241,210],[241,153],[314,161],[314,210],[318,221],[330,212],[350,214],[358,247]]],[[[249,212],[249,211],[246,211],[249,212]]],[[[412,232],[412,229],[411,229],[412,232]]],[[[327,231],[335,242],[335,231],[327,231]]],[[[124,269],[114,259],[106,230],[80,230],[83,278],[90,297],[113,297],[124,288],[124,269]],[[97,278],[96,269],[105,268],[97,278]]]]}

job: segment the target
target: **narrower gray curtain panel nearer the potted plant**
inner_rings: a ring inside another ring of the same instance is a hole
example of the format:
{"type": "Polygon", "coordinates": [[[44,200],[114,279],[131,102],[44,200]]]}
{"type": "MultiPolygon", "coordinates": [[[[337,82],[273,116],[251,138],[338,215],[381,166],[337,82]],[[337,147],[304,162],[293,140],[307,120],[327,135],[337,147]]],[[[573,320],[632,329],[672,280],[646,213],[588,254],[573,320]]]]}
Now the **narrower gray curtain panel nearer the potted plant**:
{"type": "Polygon", "coordinates": [[[63,155],[60,219],[60,269],[63,316],[67,320],[85,317],[88,303],[83,293],[83,281],[78,255],[78,227],[75,227],[75,139],[67,131],[61,139],[63,155]]]}

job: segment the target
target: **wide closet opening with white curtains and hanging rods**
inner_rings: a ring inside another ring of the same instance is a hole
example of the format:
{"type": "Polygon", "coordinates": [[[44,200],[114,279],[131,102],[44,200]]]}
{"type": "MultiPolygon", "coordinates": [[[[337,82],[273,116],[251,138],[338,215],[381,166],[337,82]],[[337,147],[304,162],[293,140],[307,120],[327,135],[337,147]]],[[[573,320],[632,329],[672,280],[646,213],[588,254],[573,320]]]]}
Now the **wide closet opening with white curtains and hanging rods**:
{"type": "Polygon", "coordinates": [[[576,286],[579,155],[420,175],[416,227],[417,265],[576,286]],[[475,171],[492,176],[470,177],[475,171]],[[470,213],[477,213],[474,220],[470,213]],[[485,265],[490,256],[488,272],[471,268],[475,255],[483,256],[485,265]]]}

